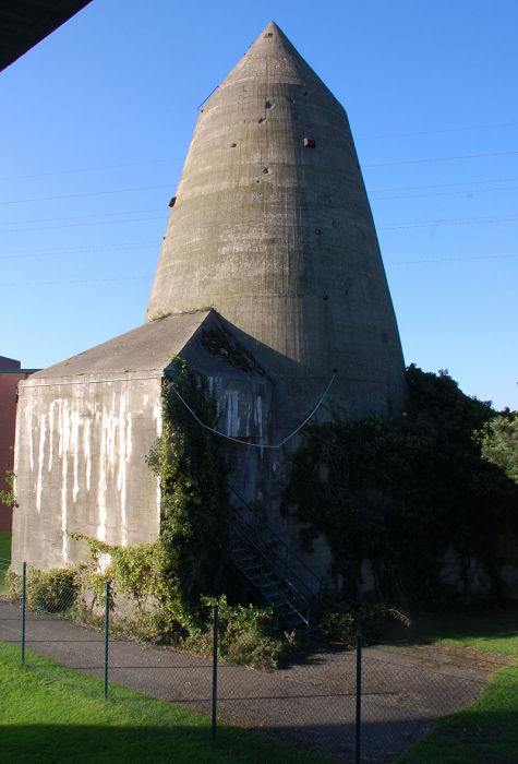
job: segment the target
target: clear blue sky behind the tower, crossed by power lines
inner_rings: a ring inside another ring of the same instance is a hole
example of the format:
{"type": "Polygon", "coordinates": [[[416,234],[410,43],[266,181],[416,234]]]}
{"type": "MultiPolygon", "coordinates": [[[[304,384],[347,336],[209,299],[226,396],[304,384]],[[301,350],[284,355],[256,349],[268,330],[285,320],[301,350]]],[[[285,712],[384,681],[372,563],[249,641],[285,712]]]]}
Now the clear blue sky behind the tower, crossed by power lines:
{"type": "Polygon", "coordinates": [[[197,106],[270,20],[349,115],[406,362],[518,408],[515,0],[93,0],[0,74],[0,355],[144,321],[197,106]]]}

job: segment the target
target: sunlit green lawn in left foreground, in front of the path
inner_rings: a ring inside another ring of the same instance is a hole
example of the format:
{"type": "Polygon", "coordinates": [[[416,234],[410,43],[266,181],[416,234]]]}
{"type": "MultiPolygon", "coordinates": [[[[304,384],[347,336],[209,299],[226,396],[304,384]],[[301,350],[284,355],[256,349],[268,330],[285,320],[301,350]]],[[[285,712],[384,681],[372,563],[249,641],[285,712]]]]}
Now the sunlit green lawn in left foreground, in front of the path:
{"type": "Polygon", "coordinates": [[[274,762],[328,760],[110,684],[0,643],[2,762],[274,762]]]}

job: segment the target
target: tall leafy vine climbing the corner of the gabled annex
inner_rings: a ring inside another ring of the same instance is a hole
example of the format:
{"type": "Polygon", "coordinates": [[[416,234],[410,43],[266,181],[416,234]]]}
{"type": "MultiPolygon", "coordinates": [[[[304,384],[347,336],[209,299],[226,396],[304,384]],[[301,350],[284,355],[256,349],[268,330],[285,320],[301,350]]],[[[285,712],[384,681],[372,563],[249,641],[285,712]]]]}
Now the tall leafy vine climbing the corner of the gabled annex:
{"type": "Polygon", "coordinates": [[[147,462],[160,480],[160,542],[166,575],[181,596],[218,594],[227,557],[229,467],[217,438],[201,428],[174,391],[204,422],[216,423],[207,380],[173,358],[162,391],[162,431],[147,462]]]}

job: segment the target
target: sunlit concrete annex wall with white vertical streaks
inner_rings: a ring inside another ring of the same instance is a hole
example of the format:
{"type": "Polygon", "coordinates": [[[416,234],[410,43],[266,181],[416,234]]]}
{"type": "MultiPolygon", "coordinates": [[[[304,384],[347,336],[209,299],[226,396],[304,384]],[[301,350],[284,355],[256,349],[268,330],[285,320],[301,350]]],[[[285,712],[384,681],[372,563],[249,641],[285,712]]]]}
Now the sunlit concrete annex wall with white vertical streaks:
{"type": "MultiPolygon", "coordinates": [[[[144,375],[144,374],[142,374],[144,375]]],[[[159,533],[159,487],[145,463],[161,429],[161,378],[89,375],[21,384],[16,421],[15,570],[71,566],[77,532],[108,544],[159,533]]]]}

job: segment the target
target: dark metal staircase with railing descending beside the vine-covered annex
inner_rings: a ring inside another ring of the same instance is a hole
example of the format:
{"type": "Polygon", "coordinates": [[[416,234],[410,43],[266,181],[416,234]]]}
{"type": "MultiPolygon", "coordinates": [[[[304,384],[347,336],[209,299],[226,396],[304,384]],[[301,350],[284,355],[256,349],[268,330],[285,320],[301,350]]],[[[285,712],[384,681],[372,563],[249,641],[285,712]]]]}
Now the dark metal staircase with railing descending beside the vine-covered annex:
{"type": "Polygon", "coordinates": [[[233,490],[241,508],[230,525],[230,557],[289,629],[306,631],[324,583],[265,520],[233,490]],[[303,577],[302,577],[303,576],[303,577]]]}

